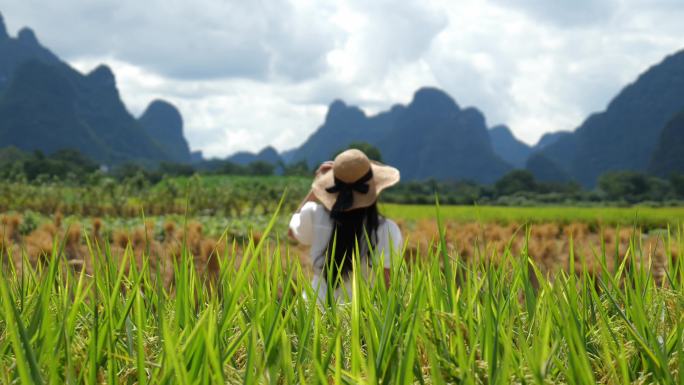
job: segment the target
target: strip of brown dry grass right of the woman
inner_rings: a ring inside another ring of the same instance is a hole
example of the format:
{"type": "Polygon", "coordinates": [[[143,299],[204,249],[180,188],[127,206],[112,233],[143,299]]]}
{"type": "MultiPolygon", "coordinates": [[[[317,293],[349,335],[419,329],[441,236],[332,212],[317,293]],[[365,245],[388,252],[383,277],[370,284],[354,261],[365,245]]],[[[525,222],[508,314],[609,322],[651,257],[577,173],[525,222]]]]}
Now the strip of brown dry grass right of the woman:
{"type": "MultiPolygon", "coordinates": [[[[400,221],[399,225],[402,233],[408,235],[409,258],[428,255],[430,249],[436,247],[439,232],[435,221],[400,221]]],[[[651,264],[653,275],[662,279],[667,259],[667,240],[636,228],[600,229],[592,228],[586,223],[539,223],[525,226],[517,223],[502,225],[448,222],[445,231],[450,253],[466,261],[496,262],[507,249],[519,255],[527,248],[527,254],[545,273],[554,273],[560,269],[569,271],[571,256],[577,273],[588,270],[597,274],[602,269],[602,262],[612,271],[629,255],[630,250],[639,250],[636,253],[638,255],[635,255],[636,260],[651,264]]],[[[672,242],[670,247],[673,257],[678,257],[677,242],[672,242]]]]}

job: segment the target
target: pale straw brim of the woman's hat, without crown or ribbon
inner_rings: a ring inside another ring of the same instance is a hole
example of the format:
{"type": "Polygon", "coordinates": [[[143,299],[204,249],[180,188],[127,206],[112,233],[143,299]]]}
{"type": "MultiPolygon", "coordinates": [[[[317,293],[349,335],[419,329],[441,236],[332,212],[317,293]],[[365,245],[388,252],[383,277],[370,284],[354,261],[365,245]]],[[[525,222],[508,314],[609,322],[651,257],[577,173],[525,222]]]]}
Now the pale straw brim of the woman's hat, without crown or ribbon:
{"type": "MultiPolygon", "coordinates": [[[[358,191],[354,191],[354,204],[347,210],[371,206],[378,199],[378,195],[380,195],[382,190],[399,182],[399,170],[392,166],[371,161],[371,169],[373,170],[373,178],[368,181],[368,192],[362,194],[358,191]]],[[[338,195],[338,193],[329,193],[326,191],[328,187],[332,187],[333,185],[335,185],[335,177],[332,169],[318,174],[311,184],[311,190],[316,196],[316,199],[318,199],[328,211],[332,210],[338,195]]]]}

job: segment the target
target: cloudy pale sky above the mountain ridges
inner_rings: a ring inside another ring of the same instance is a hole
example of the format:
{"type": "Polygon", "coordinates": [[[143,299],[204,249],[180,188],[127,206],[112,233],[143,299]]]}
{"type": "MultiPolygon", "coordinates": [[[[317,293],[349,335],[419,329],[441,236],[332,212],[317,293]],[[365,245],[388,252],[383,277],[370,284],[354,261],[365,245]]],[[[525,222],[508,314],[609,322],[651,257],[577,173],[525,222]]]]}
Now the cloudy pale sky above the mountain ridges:
{"type": "Polygon", "coordinates": [[[129,111],[175,104],[205,157],[283,151],[335,99],[368,115],[439,87],[524,142],[572,130],[684,49],[684,0],[0,0],[129,111]]]}

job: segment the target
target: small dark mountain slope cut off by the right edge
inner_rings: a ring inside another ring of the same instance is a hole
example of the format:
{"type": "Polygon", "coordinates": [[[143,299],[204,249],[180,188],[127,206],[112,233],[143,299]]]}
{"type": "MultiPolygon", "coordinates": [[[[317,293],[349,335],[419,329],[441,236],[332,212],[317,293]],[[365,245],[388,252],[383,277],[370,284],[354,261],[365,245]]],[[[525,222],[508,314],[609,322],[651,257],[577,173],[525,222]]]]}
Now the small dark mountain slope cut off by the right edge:
{"type": "Polygon", "coordinates": [[[648,170],[663,177],[672,173],[684,174],[684,110],[663,129],[648,170]]]}

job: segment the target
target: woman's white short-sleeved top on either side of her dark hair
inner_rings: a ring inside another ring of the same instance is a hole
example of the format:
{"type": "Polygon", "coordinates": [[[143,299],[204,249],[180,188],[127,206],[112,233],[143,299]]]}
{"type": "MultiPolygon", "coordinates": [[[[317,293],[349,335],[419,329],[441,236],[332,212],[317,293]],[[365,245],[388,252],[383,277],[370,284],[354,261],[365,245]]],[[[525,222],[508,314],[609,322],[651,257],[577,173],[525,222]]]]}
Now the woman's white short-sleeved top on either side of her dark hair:
{"type": "MultiPolygon", "coordinates": [[[[290,220],[290,230],[294,237],[302,244],[311,246],[309,256],[313,266],[313,290],[318,290],[318,299],[325,301],[328,285],[325,280],[325,258],[328,241],[333,231],[333,220],[330,212],[320,203],[307,202],[302,209],[295,213],[290,220]]],[[[402,248],[402,238],[399,226],[392,220],[380,218],[377,230],[377,242],[375,250],[378,258],[384,261],[386,269],[390,267],[392,253],[400,252],[402,248]]],[[[365,264],[364,264],[365,265],[365,264]]],[[[366,270],[364,269],[364,273],[366,270]]],[[[345,281],[347,295],[351,295],[351,282],[345,281]]],[[[343,295],[341,287],[335,290],[335,298],[340,299],[343,295]]]]}

